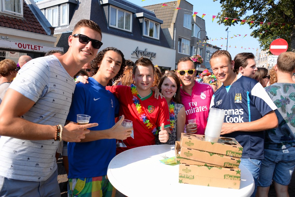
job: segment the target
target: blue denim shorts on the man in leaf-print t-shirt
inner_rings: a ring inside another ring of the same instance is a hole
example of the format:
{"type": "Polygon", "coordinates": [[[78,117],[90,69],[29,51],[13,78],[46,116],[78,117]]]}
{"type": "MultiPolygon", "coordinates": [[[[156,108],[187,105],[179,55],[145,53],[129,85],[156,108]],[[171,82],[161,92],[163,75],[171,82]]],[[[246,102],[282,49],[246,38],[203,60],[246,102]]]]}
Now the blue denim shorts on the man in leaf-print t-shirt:
{"type": "Polygon", "coordinates": [[[289,185],[295,168],[295,148],[282,150],[264,149],[264,159],[259,172],[258,186],[269,187],[271,180],[289,185]]]}

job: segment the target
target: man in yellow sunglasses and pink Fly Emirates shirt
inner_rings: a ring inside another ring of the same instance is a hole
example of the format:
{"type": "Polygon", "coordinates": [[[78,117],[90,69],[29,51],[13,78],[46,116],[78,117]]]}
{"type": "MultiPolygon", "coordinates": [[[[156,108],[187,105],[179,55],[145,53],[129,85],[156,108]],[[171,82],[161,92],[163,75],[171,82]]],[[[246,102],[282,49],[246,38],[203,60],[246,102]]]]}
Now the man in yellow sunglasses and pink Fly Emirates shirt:
{"type": "Polygon", "coordinates": [[[186,112],[186,132],[204,135],[213,89],[209,84],[195,82],[196,69],[189,57],[178,60],[177,75],[182,84],[180,94],[186,112]],[[196,119],[196,123],[188,123],[191,119],[196,119]]]}

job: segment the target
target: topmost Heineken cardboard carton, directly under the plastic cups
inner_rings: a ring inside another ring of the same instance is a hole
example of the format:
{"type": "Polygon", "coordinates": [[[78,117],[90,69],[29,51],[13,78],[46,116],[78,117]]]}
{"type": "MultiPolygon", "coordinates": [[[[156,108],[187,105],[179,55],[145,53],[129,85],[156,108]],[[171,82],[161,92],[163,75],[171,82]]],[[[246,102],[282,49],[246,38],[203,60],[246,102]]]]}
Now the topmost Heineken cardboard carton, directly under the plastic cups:
{"type": "Polygon", "coordinates": [[[181,133],[181,147],[207,152],[224,154],[231,157],[242,157],[243,147],[235,138],[219,137],[218,142],[205,141],[204,135],[181,133]]]}

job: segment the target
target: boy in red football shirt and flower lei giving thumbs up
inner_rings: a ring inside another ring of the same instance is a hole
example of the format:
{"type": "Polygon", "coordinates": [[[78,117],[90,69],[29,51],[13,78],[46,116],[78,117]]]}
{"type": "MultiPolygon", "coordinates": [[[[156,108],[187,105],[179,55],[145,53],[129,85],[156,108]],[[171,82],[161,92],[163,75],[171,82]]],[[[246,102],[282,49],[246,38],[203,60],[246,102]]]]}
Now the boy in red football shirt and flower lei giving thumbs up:
{"type": "Polygon", "coordinates": [[[139,58],[133,67],[133,80],[136,86],[107,86],[119,100],[119,114],[133,122],[134,139],[127,138],[127,147],[118,147],[117,154],[139,146],[155,144],[155,135],[165,143],[171,136],[169,110],[165,98],[154,97],[151,87],[155,68],[148,58],[139,58]]]}

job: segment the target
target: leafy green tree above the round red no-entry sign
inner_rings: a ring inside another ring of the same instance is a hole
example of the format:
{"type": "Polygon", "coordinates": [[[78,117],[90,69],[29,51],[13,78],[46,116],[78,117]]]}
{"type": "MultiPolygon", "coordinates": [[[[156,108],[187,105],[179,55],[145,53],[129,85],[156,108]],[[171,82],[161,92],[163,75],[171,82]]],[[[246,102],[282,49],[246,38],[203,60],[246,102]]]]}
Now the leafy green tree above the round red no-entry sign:
{"type": "Polygon", "coordinates": [[[273,40],[283,38],[288,42],[288,51],[295,52],[295,0],[220,0],[220,4],[219,22],[231,26],[240,24],[239,19],[249,25],[250,21],[257,21],[250,26],[251,36],[258,38],[262,49],[269,49],[273,40]],[[225,17],[230,19],[224,22],[225,17]],[[231,18],[238,20],[231,24],[231,18]],[[264,22],[261,27],[259,22],[264,22]],[[270,27],[267,22],[271,22],[270,27]]]}

